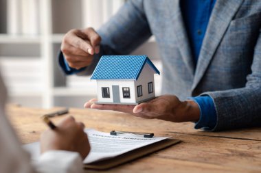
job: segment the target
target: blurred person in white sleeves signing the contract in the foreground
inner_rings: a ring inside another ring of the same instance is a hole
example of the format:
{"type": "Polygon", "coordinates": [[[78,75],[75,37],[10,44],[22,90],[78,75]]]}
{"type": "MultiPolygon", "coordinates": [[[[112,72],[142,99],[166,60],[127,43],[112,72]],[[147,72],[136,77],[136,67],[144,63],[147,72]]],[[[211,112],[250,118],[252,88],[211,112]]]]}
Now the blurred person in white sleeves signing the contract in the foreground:
{"type": "Polygon", "coordinates": [[[57,124],[56,130],[41,135],[42,155],[34,165],[30,155],[22,149],[8,118],[5,116],[6,91],[0,77],[0,172],[1,173],[53,173],[83,172],[82,159],[90,146],[84,124],[69,116],[57,124]]]}

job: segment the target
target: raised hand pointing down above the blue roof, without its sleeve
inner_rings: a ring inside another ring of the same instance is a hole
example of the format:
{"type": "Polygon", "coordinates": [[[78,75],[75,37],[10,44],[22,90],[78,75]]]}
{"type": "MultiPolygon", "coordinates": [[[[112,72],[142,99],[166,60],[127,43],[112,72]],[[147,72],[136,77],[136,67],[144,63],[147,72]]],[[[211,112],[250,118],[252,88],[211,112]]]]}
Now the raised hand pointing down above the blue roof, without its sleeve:
{"type": "Polygon", "coordinates": [[[100,52],[100,42],[100,36],[91,27],[72,29],[65,34],[60,50],[69,66],[79,69],[92,63],[94,53],[100,52]]]}

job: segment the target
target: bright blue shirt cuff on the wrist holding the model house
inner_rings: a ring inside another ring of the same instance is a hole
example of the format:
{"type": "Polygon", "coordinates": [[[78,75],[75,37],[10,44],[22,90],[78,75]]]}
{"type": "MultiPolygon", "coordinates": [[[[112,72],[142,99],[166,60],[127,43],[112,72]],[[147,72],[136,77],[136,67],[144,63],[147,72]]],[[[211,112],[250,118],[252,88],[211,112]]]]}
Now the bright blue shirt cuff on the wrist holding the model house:
{"type": "Polygon", "coordinates": [[[196,96],[189,99],[195,101],[201,111],[201,116],[195,124],[195,129],[201,129],[210,131],[216,126],[216,108],[214,106],[213,99],[210,96],[196,96]]]}

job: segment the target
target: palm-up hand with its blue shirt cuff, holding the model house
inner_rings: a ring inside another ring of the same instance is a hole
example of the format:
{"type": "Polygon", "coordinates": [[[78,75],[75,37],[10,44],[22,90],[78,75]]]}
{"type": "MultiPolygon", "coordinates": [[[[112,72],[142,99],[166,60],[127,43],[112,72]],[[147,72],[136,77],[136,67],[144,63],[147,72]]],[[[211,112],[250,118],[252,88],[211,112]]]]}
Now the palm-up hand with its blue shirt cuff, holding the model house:
{"type": "Polygon", "coordinates": [[[84,104],[91,109],[122,111],[142,118],[172,122],[195,122],[195,129],[211,131],[216,126],[216,109],[209,96],[190,97],[179,101],[177,96],[163,95],[139,105],[96,105],[95,98],[84,104]]]}

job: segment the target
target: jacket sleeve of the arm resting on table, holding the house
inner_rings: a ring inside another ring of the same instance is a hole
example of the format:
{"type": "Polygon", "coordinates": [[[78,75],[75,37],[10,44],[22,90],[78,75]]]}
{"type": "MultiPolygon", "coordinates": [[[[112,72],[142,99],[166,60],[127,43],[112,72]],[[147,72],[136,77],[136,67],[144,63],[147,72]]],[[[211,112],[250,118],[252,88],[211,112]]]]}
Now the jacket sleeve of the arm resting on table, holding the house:
{"type": "Polygon", "coordinates": [[[212,131],[260,127],[261,34],[253,51],[251,74],[247,76],[245,88],[205,92],[201,95],[206,94],[213,99],[217,114],[216,126],[212,131]]]}

